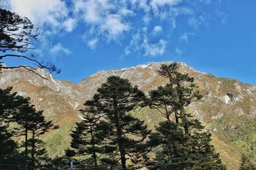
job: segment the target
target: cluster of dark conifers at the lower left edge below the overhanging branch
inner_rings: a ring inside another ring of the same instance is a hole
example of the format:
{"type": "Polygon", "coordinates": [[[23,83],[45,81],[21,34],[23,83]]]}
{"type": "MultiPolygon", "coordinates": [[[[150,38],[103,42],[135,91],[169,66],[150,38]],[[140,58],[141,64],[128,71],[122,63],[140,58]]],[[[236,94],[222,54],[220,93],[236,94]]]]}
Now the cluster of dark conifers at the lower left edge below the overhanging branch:
{"type": "Polygon", "coordinates": [[[3,161],[2,163],[5,164],[9,162],[17,168],[21,164],[28,164],[28,167],[32,169],[41,167],[47,162],[47,151],[40,136],[54,126],[51,121],[45,120],[42,115],[43,111],[35,110],[34,106],[29,103],[29,98],[18,96],[11,90],[11,87],[4,90],[0,89],[0,153],[6,154],[4,160],[0,157],[1,162],[3,161]],[[17,124],[16,127],[13,127],[15,131],[12,133],[8,131],[10,122],[17,124]],[[13,134],[24,136],[25,141],[22,141],[20,145],[21,154],[17,148],[17,143],[12,140],[13,134]],[[17,155],[21,158],[20,160],[9,159],[10,156],[17,157],[17,155]]]}

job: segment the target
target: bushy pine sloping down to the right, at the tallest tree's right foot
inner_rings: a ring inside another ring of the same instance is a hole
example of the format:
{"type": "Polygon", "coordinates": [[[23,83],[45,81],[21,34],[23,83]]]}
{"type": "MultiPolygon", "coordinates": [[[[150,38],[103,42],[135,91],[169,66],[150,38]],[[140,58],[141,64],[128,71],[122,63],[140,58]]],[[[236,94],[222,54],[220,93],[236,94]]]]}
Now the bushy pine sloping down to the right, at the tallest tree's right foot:
{"type": "Polygon", "coordinates": [[[189,114],[185,114],[182,126],[186,129],[186,152],[188,153],[189,167],[191,169],[220,169],[226,167],[221,163],[220,153],[211,145],[211,133],[204,132],[201,122],[189,114]]]}

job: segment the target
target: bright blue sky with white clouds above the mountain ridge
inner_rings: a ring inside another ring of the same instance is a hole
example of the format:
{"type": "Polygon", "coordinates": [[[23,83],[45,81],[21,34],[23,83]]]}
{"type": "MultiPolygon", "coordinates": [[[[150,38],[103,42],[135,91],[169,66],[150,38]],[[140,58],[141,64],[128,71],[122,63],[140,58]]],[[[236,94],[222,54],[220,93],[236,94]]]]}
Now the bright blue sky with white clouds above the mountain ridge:
{"type": "MultiPolygon", "coordinates": [[[[39,60],[78,83],[99,70],[180,61],[256,85],[255,0],[0,0],[42,35],[39,60]]],[[[18,60],[4,60],[8,66],[18,60]]],[[[28,63],[29,64],[29,63],[28,63]]]]}

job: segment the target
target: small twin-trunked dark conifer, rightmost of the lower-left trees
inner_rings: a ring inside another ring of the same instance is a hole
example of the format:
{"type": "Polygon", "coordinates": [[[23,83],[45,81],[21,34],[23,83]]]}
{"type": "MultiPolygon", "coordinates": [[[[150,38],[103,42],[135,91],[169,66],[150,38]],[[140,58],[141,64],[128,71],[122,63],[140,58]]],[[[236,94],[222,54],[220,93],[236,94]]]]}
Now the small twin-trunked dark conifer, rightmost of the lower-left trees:
{"type": "Polygon", "coordinates": [[[41,166],[42,162],[47,160],[44,142],[39,137],[49,129],[58,128],[51,121],[47,122],[42,113],[43,111],[35,110],[35,106],[29,103],[28,98],[20,104],[19,112],[14,116],[15,122],[19,125],[14,129],[18,136],[25,138],[22,147],[24,147],[27,164],[32,168],[41,166]]]}

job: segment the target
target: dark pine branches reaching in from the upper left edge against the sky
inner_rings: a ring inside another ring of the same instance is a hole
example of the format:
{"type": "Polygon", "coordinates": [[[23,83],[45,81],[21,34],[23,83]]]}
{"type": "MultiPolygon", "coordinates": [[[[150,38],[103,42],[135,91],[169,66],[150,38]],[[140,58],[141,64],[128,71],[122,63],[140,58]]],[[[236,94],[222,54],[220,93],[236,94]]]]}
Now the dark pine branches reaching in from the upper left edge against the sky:
{"type": "MultiPolygon", "coordinates": [[[[40,62],[36,59],[35,53],[26,55],[28,50],[32,50],[33,41],[40,35],[35,25],[26,17],[20,17],[16,13],[0,8],[0,60],[8,58],[22,58],[34,62],[36,66],[47,69],[51,72],[60,73],[60,69],[51,62],[40,62]]],[[[29,71],[35,72],[35,68],[31,66],[12,66],[7,67],[0,62],[1,69],[13,69],[24,67],[29,71]]],[[[36,73],[38,74],[38,73],[36,73]]],[[[40,76],[40,74],[38,74],[40,76]]],[[[42,77],[42,76],[41,76],[42,77]]]]}

